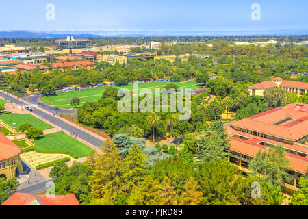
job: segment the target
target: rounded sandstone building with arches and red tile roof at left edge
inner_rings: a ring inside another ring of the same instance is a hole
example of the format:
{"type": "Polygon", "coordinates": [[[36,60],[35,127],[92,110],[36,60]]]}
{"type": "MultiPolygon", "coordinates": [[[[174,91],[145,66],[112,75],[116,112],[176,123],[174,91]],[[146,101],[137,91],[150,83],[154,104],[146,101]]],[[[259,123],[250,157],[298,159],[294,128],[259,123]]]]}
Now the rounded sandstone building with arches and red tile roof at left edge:
{"type": "Polygon", "coordinates": [[[12,179],[23,173],[20,153],[21,149],[0,133],[0,177],[12,179]]]}

